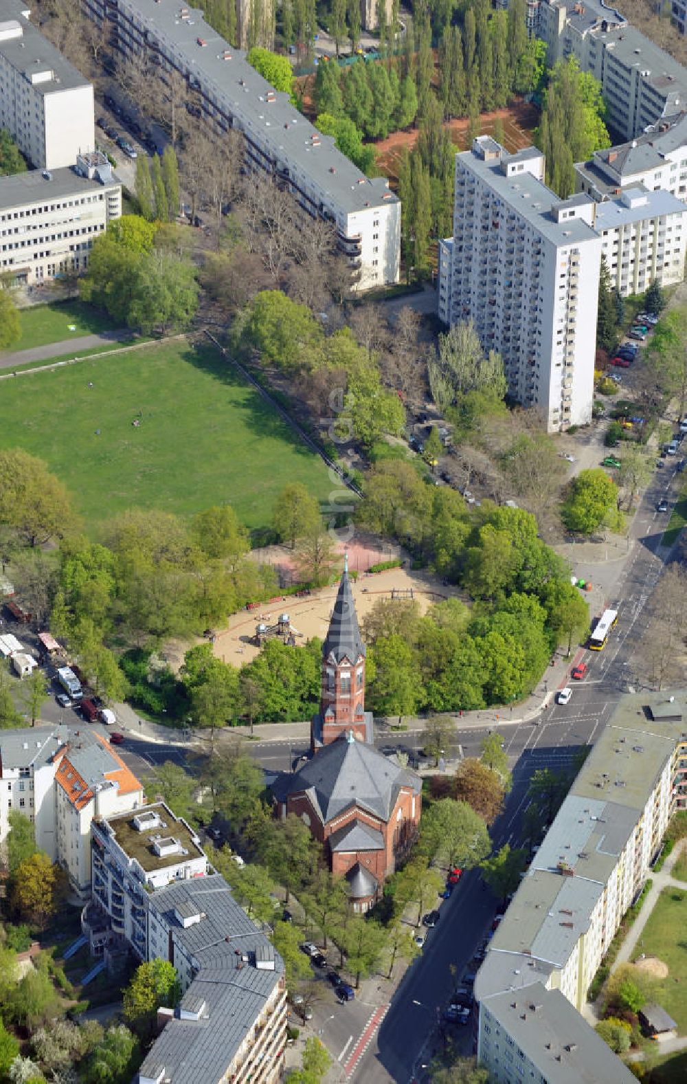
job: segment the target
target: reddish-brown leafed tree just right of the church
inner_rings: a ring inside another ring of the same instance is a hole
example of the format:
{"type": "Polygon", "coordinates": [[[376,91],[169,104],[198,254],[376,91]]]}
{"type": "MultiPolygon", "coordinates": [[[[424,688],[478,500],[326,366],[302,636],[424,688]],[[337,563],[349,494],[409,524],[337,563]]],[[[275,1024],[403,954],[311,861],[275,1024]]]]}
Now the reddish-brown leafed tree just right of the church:
{"type": "Polygon", "coordinates": [[[491,851],[487,825],[467,802],[440,798],[422,821],[420,844],[425,853],[449,866],[471,868],[491,851]]]}

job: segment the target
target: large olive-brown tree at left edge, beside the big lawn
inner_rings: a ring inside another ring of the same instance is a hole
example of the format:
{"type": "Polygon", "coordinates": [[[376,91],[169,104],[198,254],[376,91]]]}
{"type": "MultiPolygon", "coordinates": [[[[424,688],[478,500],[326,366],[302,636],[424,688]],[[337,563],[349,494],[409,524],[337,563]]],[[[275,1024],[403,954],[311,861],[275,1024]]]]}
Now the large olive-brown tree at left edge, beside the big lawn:
{"type": "Polygon", "coordinates": [[[62,538],[75,525],[65,487],[21,448],[0,451],[0,524],[30,546],[62,538]]]}

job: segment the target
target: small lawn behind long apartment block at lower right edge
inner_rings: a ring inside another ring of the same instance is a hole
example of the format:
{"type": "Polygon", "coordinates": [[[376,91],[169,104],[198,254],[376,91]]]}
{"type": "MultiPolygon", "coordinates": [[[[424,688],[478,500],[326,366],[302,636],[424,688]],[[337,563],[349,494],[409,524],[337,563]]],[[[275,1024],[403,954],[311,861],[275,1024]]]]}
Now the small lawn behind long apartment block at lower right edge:
{"type": "Polygon", "coordinates": [[[656,1001],[673,1017],[678,1034],[687,1035],[687,891],[663,889],[638,946],[667,964],[667,977],[656,983],[656,1001]]]}

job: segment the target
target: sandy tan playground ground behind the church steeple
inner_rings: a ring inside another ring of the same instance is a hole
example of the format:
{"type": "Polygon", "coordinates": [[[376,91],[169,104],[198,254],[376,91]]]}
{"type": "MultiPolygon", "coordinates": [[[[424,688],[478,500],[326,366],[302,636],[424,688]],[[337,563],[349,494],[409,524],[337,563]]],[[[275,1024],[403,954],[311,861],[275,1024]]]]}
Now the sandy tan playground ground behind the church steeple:
{"type": "MultiPolygon", "coordinates": [[[[350,559],[349,567],[354,568],[350,559]]],[[[261,609],[233,614],[228,628],[216,634],[216,656],[235,667],[250,662],[259,650],[251,642],[256,625],[259,621],[274,625],[281,614],[288,614],[297,645],[304,644],[313,636],[324,640],[337,591],[338,583],[323,588],[322,591],[314,591],[306,597],[290,595],[272,603],[264,603],[261,609]]],[[[436,577],[426,572],[413,572],[405,568],[391,568],[385,572],[362,572],[353,584],[359,621],[362,623],[378,598],[389,598],[393,591],[403,592],[401,597],[410,597],[412,591],[423,612],[432,603],[457,595],[455,589],[445,586],[436,577]]]]}

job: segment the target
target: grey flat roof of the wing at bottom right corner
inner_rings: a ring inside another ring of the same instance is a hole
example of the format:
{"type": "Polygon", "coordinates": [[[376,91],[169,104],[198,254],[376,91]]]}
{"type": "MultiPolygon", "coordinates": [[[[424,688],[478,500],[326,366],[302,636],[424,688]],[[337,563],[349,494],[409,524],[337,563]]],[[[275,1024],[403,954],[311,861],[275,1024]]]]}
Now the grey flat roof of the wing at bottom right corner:
{"type": "Polygon", "coordinates": [[[485,1008],[549,1084],[632,1084],[615,1057],[559,990],[540,982],[487,998],[485,1008]]]}

